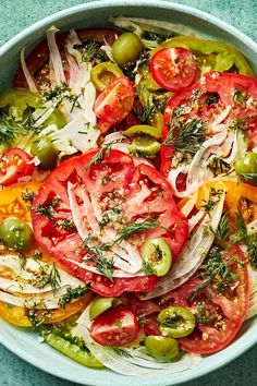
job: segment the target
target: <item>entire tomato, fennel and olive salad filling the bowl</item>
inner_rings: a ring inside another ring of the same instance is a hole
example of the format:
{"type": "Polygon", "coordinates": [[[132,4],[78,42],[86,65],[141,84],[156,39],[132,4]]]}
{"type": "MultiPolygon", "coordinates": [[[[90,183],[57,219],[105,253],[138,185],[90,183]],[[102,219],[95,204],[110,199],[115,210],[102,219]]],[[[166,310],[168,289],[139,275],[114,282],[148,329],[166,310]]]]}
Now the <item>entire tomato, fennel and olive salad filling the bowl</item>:
{"type": "Polygon", "coordinates": [[[51,26],[0,94],[0,316],[172,374],[257,312],[257,80],[183,25],[110,23],[51,26]]]}

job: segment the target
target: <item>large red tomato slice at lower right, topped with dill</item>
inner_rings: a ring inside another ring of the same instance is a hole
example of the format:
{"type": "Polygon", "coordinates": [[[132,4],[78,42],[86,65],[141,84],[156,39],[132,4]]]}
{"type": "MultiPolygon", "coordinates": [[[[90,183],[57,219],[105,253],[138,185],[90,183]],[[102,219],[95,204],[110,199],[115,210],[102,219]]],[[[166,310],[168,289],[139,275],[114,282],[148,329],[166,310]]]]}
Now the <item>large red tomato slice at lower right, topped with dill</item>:
{"type": "Polygon", "coordinates": [[[222,350],[234,338],[238,331],[248,309],[248,274],[244,254],[238,245],[234,245],[225,253],[224,258],[236,256],[232,266],[237,277],[234,288],[218,293],[213,287],[208,287],[194,300],[188,303],[188,295],[203,282],[195,274],[182,287],[164,295],[171,305],[181,305],[192,310],[195,314],[199,305],[209,323],[200,322],[193,334],[180,338],[180,347],[184,351],[195,353],[211,353],[222,350]]]}

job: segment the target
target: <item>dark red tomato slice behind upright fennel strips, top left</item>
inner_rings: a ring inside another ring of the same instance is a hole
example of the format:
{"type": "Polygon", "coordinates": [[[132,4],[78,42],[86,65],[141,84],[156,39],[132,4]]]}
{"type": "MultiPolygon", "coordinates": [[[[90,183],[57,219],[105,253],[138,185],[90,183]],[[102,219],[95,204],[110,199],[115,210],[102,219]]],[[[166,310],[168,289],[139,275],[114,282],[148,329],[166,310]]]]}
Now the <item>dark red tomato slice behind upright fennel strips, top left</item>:
{"type": "MultiPolygon", "coordinates": [[[[100,43],[106,41],[110,46],[112,46],[117,36],[119,36],[119,32],[111,28],[81,29],[81,31],[76,31],[76,33],[82,43],[94,39],[100,43]]],[[[63,34],[58,34],[56,37],[57,45],[59,47],[62,58],[64,58],[64,44],[68,35],[69,35],[68,33],[63,33],[63,34]]],[[[46,64],[48,64],[48,60],[49,60],[49,48],[48,48],[47,39],[45,39],[41,43],[39,43],[38,46],[36,46],[34,50],[26,58],[26,64],[28,71],[34,77],[34,81],[37,84],[37,86],[39,86],[41,82],[49,83],[48,77],[45,79],[39,77],[39,72],[46,64]]],[[[14,77],[13,87],[29,88],[22,69],[17,71],[14,77]]]]}

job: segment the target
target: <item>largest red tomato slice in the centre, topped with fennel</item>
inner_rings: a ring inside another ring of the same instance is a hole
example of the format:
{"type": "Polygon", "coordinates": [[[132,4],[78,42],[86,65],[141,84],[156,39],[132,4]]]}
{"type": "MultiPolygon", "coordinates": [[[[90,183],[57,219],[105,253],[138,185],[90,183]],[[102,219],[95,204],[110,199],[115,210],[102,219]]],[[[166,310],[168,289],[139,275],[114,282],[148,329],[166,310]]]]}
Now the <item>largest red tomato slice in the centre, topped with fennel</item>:
{"type": "MultiPolygon", "coordinates": [[[[140,253],[138,245],[147,238],[163,237],[170,243],[175,261],[187,238],[187,221],[178,210],[172,190],[166,179],[154,167],[135,166],[133,157],[119,150],[111,150],[100,164],[86,170],[85,167],[95,154],[96,150],[91,150],[73,157],[54,169],[39,189],[33,203],[34,208],[47,207],[52,204],[53,198],[58,198],[52,219],[54,221],[72,219],[68,194],[68,183],[72,183],[77,216],[81,216],[79,228],[84,228],[85,232],[94,233],[93,228],[101,224],[103,213],[107,215],[118,203],[121,216],[125,219],[124,226],[136,220],[142,221],[149,215],[163,226],[134,234],[127,240],[138,253],[140,253]],[[83,191],[89,201],[83,196],[83,191]],[[89,215],[86,215],[85,206],[88,207],[89,215]],[[94,217],[96,210],[97,216],[100,216],[98,220],[94,217]]],[[[93,291],[107,297],[118,297],[124,291],[147,292],[157,285],[158,278],[154,275],[113,277],[111,281],[105,275],[91,272],[83,260],[86,252],[79,251],[83,238],[77,229],[62,230],[52,219],[35,209],[32,210],[32,217],[34,237],[39,245],[56,256],[76,277],[90,284],[93,291]]],[[[109,226],[112,232],[115,232],[113,237],[119,236],[111,221],[109,226]]],[[[88,264],[96,265],[96,255],[90,254],[90,258],[91,263],[88,264]]]]}

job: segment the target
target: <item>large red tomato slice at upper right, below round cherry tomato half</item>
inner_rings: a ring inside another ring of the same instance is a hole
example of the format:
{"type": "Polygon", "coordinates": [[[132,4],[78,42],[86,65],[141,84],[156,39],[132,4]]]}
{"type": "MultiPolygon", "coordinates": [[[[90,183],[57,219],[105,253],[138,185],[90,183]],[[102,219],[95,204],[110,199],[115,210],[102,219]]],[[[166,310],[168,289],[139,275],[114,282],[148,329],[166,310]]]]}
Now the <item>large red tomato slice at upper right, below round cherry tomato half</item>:
{"type": "MultiPolygon", "coordinates": [[[[255,142],[257,131],[257,80],[233,73],[206,73],[197,83],[184,92],[175,94],[168,101],[164,112],[162,140],[168,136],[173,114],[184,124],[187,120],[201,119],[211,132],[215,119],[231,107],[222,123],[240,122],[250,140],[255,142]],[[240,98],[236,98],[236,94],[240,98]],[[211,101],[212,98],[212,101],[211,101]]],[[[253,147],[253,144],[249,144],[253,147]]],[[[161,171],[164,176],[172,169],[172,146],[161,147],[161,171]]]]}

